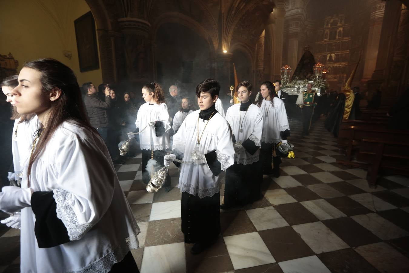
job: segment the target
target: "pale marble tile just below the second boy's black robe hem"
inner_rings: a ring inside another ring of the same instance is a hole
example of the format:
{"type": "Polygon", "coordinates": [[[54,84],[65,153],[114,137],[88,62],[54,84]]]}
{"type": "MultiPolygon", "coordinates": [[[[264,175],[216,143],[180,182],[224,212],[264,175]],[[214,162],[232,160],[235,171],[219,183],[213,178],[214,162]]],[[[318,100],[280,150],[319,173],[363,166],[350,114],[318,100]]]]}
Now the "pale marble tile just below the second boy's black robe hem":
{"type": "Polygon", "coordinates": [[[288,226],[287,221],[273,207],[246,210],[246,213],[257,230],[288,226]]]}

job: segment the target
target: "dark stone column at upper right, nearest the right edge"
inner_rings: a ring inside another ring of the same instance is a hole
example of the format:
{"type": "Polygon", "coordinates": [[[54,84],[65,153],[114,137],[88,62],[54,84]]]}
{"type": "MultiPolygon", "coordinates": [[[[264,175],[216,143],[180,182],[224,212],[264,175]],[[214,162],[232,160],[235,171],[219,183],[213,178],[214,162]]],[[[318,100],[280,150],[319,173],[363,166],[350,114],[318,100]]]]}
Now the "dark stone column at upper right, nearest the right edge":
{"type": "MultiPolygon", "coordinates": [[[[367,83],[368,90],[373,91],[375,89],[380,89],[382,83],[386,81],[387,71],[390,69],[393,59],[393,48],[395,46],[401,8],[402,3],[398,0],[385,2],[378,56],[376,59],[375,71],[367,83]]],[[[385,85],[386,82],[384,86],[385,85]]]]}

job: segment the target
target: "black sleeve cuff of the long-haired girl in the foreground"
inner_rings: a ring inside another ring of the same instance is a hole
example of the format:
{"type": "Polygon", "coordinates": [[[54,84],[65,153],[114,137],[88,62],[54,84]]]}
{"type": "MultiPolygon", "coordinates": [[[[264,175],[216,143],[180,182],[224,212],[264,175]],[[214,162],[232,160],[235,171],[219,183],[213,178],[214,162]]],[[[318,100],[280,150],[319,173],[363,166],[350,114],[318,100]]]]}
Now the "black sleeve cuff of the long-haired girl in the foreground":
{"type": "Polygon", "coordinates": [[[31,209],[36,216],[34,233],[39,248],[49,248],[70,241],[67,228],[57,217],[57,203],[53,192],[34,192],[31,195],[31,209]]]}

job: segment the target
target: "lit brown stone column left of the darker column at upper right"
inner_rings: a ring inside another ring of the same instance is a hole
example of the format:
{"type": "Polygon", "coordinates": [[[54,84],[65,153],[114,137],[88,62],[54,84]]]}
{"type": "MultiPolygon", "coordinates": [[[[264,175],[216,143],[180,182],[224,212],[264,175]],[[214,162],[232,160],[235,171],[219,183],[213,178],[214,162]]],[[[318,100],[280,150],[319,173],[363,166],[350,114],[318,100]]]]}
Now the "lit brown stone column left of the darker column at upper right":
{"type": "Polygon", "coordinates": [[[371,21],[369,22],[368,43],[366,44],[366,55],[364,59],[365,66],[361,80],[363,86],[371,79],[372,73],[375,70],[385,11],[385,3],[381,2],[381,0],[371,0],[369,5],[371,8],[371,21]]]}

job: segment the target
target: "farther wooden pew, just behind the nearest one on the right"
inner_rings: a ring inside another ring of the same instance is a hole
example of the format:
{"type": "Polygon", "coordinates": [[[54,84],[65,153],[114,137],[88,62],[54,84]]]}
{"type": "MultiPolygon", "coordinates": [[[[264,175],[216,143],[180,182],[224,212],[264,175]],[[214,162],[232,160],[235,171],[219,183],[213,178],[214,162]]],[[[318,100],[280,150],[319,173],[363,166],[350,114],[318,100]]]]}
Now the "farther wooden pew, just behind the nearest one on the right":
{"type": "Polygon", "coordinates": [[[409,139],[409,131],[392,130],[379,125],[347,125],[342,123],[339,128],[338,146],[345,149],[345,159],[338,159],[337,163],[366,168],[365,164],[353,162],[353,151],[359,149],[362,139],[393,139],[396,142],[405,142],[409,139]]]}

